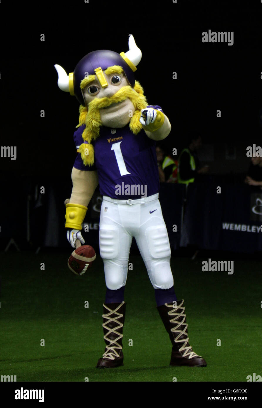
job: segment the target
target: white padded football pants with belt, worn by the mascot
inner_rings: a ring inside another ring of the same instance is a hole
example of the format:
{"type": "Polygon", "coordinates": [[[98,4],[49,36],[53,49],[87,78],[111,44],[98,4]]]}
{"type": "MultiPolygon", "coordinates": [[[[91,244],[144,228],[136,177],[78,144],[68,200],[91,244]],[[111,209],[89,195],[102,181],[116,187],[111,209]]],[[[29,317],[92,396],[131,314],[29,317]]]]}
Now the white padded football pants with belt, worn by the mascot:
{"type": "Polygon", "coordinates": [[[138,200],[113,200],[103,196],[99,246],[107,288],[126,284],[132,237],[155,289],[173,286],[171,250],[158,194],[138,200]]]}

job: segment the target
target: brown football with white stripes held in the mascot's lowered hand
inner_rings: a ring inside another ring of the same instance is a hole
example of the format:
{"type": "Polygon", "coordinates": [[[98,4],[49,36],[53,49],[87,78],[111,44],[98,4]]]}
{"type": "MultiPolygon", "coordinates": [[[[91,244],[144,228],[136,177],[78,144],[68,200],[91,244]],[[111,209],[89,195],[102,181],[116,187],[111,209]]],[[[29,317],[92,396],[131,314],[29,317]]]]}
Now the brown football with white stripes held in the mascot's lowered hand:
{"type": "Polygon", "coordinates": [[[96,258],[95,250],[90,245],[82,245],[75,249],[69,259],[68,267],[75,275],[84,275],[87,269],[91,268],[96,258]]]}

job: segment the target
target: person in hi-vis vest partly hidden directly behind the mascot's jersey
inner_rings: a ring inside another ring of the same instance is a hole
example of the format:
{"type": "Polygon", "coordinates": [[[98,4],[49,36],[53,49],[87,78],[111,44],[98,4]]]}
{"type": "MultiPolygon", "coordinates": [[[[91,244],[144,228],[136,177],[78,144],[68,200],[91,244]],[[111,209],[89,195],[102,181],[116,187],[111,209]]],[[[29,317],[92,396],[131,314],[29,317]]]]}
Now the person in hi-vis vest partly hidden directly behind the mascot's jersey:
{"type": "Polygon", "coordinates": [[[167,155],[161,145],[155,148],[158,160],[158,174],[160,183],[177,183],[178,182],[178,161],[173,160],[167,155]]]}

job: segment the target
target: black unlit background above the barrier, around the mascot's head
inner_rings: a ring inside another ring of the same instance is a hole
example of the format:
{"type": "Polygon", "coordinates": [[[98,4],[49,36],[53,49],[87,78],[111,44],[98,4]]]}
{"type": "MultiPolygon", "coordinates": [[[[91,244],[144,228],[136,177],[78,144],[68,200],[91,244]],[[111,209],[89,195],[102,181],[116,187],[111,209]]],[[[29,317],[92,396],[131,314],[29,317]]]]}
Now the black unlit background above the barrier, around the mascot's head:
{"type": "Polygon", "coordinates": [[[17,146],[16,160],[0,158],[1,172],[70,177],[79,104],[60,91],[53,66],[69,73],[90,51],[126,52],[129,33],[142,50],[135,78],[172,125],[168,151],[199,131],[215,145],[213,173],[246,171],[246,146],[262,131],[259,1],[1,2],[1,20],[1,145],[17,146]],[[209,29],[234,31],[233,46],[202,43],[209,29]],[[225,143],[241,146],[226,167],[218,165],[225,143]]]}

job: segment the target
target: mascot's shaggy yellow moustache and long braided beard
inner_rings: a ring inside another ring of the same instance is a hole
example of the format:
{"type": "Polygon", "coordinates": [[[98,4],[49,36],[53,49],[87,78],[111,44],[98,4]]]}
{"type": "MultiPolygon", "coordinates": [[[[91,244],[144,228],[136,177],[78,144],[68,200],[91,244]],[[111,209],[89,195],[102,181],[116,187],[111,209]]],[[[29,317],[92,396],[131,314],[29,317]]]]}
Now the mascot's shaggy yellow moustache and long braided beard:
{"type": "Polygon", "coordinates": [[[82,138],[87,143],[82,143],[79,147],[79,152],[85,166],[94,164],[94,149],[91,142],[96,140],[100,135],[100,126],[102,126],[99,109],[110,106],[113,103],[123,102],[129,98],[135,108],[135,112],[129,122],[130,130],[137,135],[142,129],[142,124],[139,122],[141,109],[147,107],[147,100],[144,96],[144,90],[138,81],[135,81],[135,86],[123,86],[111,98],[95,98],[87,106],[80,105],[79,108],[79,124],[76,127],[85,124],[85,129],[82,133],[82,138]]]}

